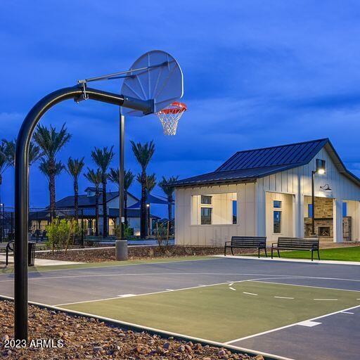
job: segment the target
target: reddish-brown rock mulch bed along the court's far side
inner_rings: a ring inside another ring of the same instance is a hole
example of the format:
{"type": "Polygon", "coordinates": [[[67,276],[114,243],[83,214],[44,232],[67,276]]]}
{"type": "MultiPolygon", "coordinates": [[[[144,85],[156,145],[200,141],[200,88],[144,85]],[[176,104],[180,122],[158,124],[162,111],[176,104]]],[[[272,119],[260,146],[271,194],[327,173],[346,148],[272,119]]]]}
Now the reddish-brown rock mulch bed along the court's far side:
{"type": "MultiPolygon", "coordinates": [[[[251,254],[252,249],[234,249],[236,255],[251,254]]],[[[200,246],[179,246],[172,245],[169,248],[160,249],[156,246],[141,246],[128,248],[129,259],[155,259],[159,257],[188,257],[188,256],[206,256],[224,254],[224,248],[210,248],[200,246]]],[[[91,249],[91,250],[72,250],[54,252],[37,252],[38,259],[66,260],[73,262],[107,262],[115,260],[114,248],[109,249],[91,249]]]]}

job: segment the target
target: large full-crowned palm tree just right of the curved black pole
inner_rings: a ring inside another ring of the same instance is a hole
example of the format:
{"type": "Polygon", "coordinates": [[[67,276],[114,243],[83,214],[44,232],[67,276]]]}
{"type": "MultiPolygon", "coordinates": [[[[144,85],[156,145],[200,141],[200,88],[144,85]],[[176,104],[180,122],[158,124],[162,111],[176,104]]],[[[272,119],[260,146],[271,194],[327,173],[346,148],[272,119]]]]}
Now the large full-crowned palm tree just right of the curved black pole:
{"type": "MultiPolygon", "coordinates": [[[[42,125],[37,125],[37,130],[34,133],[34,141],[41,148],[44,153],[45,162],[47,163],[49,172],[49,191],[50,191],[50,213],[51,218],[55,214],[55,202],[56,202],[56,188],[55,188],[55,176],[56,176],[56,155],[70,141],[71,135],[68,133],[65,124],[61,127],[60,131],[56,131],[56,128],[50,125],[47,128],[42,125]]],[[[43,162],[44,163],[44,162],[43,162]]],[[[44,165],[43,165],[44,166],[44,165]]]]}

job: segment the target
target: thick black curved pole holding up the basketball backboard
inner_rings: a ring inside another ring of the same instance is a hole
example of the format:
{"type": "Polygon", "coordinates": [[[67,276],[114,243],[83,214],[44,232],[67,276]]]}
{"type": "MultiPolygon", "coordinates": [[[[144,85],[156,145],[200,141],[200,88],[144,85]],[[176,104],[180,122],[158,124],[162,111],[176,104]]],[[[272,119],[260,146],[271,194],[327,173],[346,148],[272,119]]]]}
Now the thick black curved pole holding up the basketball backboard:
{"type": "Polygon", "coordinates": [[[141,101],[129,96],[86,89],[86,84],[54,91],[42,98],[27,114],[18,133],[15,151],[15,252],[14,252],[14,305],[15,340],[27,341],[27,231],[29,213],[29,147],[37,123],[47,110],[68,99],[79,102],[92,99],[103,103],[124,106],[150,113],[151,101],[141,101]]]}

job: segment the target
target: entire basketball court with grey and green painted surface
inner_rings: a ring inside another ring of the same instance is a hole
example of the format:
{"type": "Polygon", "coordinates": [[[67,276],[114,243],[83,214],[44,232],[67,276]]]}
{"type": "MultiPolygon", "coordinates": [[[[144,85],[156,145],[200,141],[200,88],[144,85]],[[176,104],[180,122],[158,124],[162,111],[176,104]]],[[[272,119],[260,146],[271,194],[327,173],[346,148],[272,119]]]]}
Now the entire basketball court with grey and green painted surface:
{"type": "MultiPolygon", "coordinates": [[[[359,266],[212,258],[32,271],[30,300],[278,359],[357,356],[359,266]]],[[[13,297],[13,274],[0,275],[13,297]]]]}

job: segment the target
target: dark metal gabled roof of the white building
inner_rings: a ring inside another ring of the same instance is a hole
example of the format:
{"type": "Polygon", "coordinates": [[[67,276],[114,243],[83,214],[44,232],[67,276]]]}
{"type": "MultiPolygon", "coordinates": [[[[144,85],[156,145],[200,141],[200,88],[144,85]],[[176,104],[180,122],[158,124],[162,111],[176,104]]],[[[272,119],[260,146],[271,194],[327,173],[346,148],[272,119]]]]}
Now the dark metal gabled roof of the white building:
{"type": "Polygon", "coordinates": [[[214,172],[178,180],[174,186],[253,182],[257,178],[308,164],[324,146],[340,173],[360,186],[360,179],[346,169],[329,139],[238,151],[214,172]]]}

